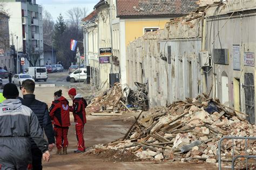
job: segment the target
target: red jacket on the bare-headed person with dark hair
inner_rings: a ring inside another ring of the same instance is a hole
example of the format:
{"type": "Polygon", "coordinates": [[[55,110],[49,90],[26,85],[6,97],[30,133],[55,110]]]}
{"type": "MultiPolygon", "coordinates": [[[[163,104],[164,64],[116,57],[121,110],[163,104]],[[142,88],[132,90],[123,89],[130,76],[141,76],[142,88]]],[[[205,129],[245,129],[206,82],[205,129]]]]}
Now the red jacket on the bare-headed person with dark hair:
{"type": "Polygon", "coordinates": [[[69,127],[69,101],[61,96],[59,99],[52,101],[50,107],[50,117],[52,123],[59,127],[69,127]]]}

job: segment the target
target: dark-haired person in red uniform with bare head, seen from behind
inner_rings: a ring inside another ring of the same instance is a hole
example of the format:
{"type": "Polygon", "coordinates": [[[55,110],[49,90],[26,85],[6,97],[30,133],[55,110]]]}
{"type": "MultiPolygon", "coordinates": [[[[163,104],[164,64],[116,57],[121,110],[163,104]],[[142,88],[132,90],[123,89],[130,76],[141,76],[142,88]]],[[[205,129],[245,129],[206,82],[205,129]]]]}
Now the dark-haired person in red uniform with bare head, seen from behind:
{"type": "Polygon", "coordinates": [[[54,101],[50,107],[50,117],[54,125],[53,130],[55,131],[57,154],[66,155],[68,141],[68,131],[70,126],[69,118],[69,101],[62,96],[62,90],[54,93],[54,101]]]}

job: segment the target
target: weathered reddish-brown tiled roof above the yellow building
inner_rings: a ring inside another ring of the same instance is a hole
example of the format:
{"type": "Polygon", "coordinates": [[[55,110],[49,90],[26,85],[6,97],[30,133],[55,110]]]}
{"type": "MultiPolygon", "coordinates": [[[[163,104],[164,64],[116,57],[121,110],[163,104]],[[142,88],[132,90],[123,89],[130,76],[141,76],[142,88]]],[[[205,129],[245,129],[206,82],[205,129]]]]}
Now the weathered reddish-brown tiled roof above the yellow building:
{"type": "Polygon", "coordinates": [[[117,0],[117,16],[184,15],[198,7],[198,0],[117,0]]]}

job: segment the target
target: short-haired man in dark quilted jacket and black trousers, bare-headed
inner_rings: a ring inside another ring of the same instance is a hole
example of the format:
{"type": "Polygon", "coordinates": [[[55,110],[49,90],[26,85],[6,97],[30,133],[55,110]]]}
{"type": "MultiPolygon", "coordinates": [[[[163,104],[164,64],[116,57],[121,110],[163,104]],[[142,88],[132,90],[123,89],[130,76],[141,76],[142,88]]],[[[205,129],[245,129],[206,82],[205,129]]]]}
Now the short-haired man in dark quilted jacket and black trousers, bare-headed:
{"type": "MultiPolygon", "coordinates": [[[[55,138],[51,118],[49,116],[48,105],[36,99],[35,94],[33,94],[35,91],[35,83],[33,80],[24,80],[20,89],[23,94],[22,104],[31,108],[31,110],[36,114],[39,124],[48,139],[49,150],[51,151],[55,146],[55,138]]],[[[40,152],[40,149],[32,138],[31,148],[33,169],[42,169],[42,152],[40,152]]]]}

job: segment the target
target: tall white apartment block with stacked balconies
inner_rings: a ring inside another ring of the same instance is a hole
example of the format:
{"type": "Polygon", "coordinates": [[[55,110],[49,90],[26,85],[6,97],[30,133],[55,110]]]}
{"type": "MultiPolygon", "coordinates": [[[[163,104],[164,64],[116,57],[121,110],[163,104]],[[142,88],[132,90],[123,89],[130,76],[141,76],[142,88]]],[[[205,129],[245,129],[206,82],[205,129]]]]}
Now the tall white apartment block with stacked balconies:
{"type": "MultiPolygon", "coordinates": [[[[24,68],[44,64],[42,6],[33,0],[3,0],[10,16],[10,45],[25,57],[24,68]]],[[[20,67],[20,66],[19,66],[20,67]]]]}

